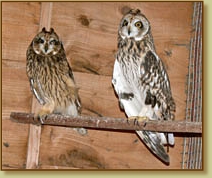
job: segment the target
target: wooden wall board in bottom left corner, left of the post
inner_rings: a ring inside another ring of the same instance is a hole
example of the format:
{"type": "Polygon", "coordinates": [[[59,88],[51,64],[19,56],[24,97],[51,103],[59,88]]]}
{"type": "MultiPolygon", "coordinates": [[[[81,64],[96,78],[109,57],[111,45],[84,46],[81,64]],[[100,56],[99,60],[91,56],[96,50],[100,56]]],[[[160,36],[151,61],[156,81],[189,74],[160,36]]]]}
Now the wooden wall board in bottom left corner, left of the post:
{"type": "Polygon", "coordinates": [[[24,169],[29,125],[2,121],[2,169],[24,169]]]}

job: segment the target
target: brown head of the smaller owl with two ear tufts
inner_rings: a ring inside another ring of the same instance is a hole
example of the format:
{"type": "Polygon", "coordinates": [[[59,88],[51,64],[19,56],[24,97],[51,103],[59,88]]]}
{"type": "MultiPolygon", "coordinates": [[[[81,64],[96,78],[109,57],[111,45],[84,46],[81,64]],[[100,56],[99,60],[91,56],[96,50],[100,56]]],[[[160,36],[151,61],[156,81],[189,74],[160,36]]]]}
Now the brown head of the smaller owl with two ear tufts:
{"type": "Polygon", "coordinates": [[[33,39],[32,47],[37,54],[56,55],[62,48],[62,43],[53,28],[50,31],[46,31],[44,27],[33,39]]]}

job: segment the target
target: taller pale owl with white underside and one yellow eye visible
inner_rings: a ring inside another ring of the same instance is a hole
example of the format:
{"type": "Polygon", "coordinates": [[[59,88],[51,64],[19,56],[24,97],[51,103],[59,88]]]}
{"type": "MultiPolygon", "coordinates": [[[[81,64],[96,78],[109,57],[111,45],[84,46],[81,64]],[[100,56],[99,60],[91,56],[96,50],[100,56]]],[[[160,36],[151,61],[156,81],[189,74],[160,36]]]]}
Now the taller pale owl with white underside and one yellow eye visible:
{"type": "MultiPolygon", "coordinates": [[[[150,23],[139,9],[121,19],[112,84],[127,117],[174,119],[176,107],[168,74],[155,51],[150,23]]],[[[169,164],[164,146],[174,145],[173,133],[136,132],[156,157],[169,164]]]]}

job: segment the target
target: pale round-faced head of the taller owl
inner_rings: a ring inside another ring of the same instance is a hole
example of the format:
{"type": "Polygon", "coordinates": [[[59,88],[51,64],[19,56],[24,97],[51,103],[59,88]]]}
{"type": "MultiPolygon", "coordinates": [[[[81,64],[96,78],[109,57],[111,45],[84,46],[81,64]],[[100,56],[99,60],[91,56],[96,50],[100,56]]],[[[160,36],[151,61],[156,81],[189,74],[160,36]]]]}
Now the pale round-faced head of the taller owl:
{"type": "Polygon", "coordinates": [[[150,23],[147,18],[141,14],[139,9],[131,9],[121,19],[118,33],[122,39],[134,38],[140,41],[149,31],[150,23]]]}

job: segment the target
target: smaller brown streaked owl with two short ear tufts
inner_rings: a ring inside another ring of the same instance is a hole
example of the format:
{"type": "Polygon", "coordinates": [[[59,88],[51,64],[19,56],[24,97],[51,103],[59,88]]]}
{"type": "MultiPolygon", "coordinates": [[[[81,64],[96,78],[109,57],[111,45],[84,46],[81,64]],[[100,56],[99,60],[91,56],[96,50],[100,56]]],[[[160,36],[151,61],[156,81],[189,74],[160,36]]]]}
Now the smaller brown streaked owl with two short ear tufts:
{"type": "Polygon", "coordinates": [[[43,107],[41,119],[48,114],[77,116],[81,111],[78,88],[66,58],[63,44],[54,29],[39,32],[27,49],[26,72],[30,87],[43,107]]]}

